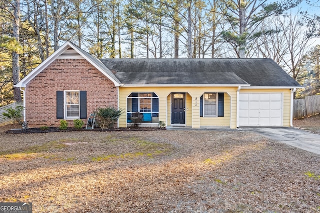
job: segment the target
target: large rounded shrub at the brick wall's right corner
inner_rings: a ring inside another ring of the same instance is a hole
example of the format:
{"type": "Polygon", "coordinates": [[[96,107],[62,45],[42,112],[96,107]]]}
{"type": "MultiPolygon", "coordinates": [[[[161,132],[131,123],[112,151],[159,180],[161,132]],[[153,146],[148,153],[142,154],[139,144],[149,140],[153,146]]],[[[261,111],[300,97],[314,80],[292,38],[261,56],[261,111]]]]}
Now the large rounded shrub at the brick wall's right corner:
{"type": "Polygon", "coordinates": [[[101,129],[113,128],[114,123],[122,114],[122,109],[117,110],[114,107],[98,108],[96,113],[96,123],[101,129]]]}

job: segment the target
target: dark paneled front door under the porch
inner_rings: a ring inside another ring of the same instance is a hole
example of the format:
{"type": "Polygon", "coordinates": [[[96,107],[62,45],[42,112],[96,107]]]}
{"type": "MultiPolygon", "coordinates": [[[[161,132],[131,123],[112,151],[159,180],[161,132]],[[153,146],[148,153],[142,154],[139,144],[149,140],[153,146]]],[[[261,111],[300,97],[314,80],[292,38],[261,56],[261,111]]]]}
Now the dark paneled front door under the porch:
{"type": "Polygon", "coordinates": [[[185,93],[172,93],[171,124],[185,124],[185,93]]]}

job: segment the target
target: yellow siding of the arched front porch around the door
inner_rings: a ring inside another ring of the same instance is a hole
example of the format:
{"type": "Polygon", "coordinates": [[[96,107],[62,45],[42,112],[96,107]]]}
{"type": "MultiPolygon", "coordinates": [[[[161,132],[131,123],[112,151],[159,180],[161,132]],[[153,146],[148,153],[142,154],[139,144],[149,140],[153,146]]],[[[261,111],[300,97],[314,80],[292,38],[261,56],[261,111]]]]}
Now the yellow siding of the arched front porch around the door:
{"type": "Polygon", "coordinates": [[[119,118],[119,127],[126,127],[126,97],[131,92],[154,92],[159,97],[159,121],[165,121],[167,126],[171,124],[171,93],[185,93],[186,126],[200,128],[222,125],[235,128],[236,90],[237,87],[119,87],[119,108],[125,110],[119,118]],[[204,92],[224,92],[224,117],[200,119],[200,96],[204,92]]]}

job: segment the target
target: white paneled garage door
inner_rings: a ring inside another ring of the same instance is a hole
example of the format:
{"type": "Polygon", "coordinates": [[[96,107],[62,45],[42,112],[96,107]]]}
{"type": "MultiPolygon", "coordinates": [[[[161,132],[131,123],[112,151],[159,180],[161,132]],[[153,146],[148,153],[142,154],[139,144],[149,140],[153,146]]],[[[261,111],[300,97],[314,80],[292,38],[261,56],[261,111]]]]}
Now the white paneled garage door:
{"type": "Polygon", "coordinates": [[[282,93],[240,93],[239,126],[281,126],[282,93]]]}

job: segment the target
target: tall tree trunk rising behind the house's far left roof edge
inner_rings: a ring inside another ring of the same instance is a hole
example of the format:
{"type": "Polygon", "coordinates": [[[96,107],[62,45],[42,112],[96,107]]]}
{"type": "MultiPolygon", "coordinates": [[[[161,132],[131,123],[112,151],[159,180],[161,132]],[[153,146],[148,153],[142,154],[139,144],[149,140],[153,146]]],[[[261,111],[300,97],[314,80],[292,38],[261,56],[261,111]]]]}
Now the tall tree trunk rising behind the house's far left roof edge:
{"type": "MultiPolygon", "coordinates": [[[[13,5],[13,37],[16,42],[19,43],[19,27],[20,27],[20,0],[14,0],[13,5]]],[[[12,78],[13,84],[17,84],[20,81],[20,67],[19,67],[19,53],[17,51],[12,52],[12,78]]],[[[13,88],[13,100],[21,102],[21,92],[18,87],[13,88]]]]}

